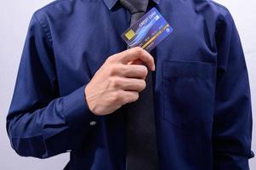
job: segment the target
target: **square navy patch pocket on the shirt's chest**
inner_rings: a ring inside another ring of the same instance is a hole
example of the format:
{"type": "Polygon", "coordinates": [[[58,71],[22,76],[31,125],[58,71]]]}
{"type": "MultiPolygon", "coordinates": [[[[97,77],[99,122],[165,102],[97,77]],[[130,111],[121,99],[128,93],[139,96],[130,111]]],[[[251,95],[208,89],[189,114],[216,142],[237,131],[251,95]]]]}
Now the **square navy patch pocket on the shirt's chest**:
{"type": "Polygon", "coordinates": [[[163,116],[176,126],[213,119],[214,65],[204,62],[162,62],[163,116]]]}

